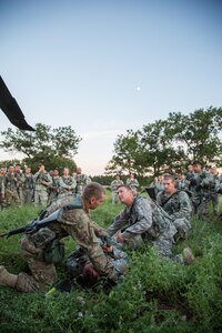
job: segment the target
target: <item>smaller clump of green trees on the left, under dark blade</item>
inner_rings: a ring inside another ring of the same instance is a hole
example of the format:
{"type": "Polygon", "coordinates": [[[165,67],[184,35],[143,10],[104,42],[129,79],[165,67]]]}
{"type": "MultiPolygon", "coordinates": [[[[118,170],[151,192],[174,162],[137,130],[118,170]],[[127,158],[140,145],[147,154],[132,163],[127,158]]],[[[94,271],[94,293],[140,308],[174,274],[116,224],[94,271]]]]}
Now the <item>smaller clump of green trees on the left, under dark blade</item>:
{"type": "Polygon", "coordinates": [[[12,129],[2,131],[0,148],[4,151],[22,152],[29,159],[50,155],[73,157],[82,140],[71,127],[51,129],[50,125],[37,123],[36,132],[26,132],[12,129]]]}

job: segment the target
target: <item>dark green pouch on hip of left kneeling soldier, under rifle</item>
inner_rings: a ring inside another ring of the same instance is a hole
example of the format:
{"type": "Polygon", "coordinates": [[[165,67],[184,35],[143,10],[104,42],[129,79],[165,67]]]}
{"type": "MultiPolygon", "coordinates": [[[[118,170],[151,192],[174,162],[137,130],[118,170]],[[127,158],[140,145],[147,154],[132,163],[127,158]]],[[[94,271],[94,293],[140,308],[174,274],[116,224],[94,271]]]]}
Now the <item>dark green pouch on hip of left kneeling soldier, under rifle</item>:
{"type": "Polygon", "coordinates": [[[44,260],[47,263],[57,264],[64,259],[64,244],[57,238],[51,241],[44,250],[44,260]]]}

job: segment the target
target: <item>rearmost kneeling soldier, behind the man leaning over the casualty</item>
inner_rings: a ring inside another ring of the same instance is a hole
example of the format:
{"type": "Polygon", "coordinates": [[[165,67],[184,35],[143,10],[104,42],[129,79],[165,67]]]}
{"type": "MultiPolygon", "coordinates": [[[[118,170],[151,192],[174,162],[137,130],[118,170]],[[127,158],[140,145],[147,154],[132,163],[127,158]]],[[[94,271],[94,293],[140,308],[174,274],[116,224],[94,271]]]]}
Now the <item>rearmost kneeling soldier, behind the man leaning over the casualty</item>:
{"type": "Polygon", "coordinates": [[[157,203],[171,216],[178,230],[174,239],[185,239],[191,229],[192,205],[186,192],[175,189],[173,175],[164,176],[164,191],[158,193],[157,203]]]}

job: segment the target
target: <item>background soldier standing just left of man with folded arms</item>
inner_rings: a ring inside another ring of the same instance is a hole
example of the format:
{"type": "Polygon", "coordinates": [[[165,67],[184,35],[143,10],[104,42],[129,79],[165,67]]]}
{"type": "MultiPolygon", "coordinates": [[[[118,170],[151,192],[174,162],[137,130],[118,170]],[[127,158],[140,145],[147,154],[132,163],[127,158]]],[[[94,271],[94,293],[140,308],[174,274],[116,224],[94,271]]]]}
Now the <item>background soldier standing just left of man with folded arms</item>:
{"type": "Polygon", "coordinates": [[[34,181],[31,168],[26,167],[22,175],[22,204],[33,202],[34,198],[34,181]]]}

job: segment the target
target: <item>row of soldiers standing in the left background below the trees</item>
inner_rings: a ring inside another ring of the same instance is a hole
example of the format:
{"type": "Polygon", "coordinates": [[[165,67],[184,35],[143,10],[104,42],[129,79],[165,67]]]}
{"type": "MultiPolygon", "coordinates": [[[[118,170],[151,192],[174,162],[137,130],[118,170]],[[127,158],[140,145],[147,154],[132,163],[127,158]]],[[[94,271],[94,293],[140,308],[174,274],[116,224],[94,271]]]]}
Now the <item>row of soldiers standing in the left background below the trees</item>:
{"type": "Polygon", "coordinates": [[[0,208],[31,202],[46,206],[69,193],[81,194],[83,188],[90,182],[91,179],[83,174],[79,167],[73,175],[70,174],[69,168],[63,168],[61,175],[58,168],[47,172],[43,164],[34,174],[30,167],[26,167],[22,172],[19,163],[10,164],[8,170],[1,167],[0,208]]]}

